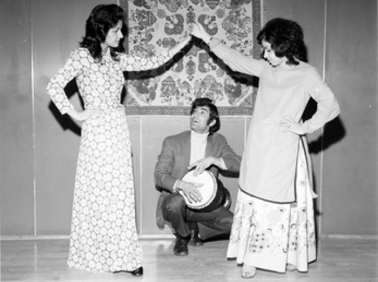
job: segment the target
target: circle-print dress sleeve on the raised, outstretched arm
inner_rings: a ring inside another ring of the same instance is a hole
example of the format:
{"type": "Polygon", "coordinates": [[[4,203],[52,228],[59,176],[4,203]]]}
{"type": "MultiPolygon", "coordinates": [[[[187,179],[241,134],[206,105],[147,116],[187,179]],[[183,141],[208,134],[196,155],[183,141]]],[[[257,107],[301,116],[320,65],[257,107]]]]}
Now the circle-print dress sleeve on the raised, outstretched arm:
{"type": "Polygon", "coordinates": [[[120,68],[122,72],[138,72],[140,70],[155,69],[169,61],[174,54],[163,51],[159,55],[151,57],[133,56],[119,53],[120,68]]]}

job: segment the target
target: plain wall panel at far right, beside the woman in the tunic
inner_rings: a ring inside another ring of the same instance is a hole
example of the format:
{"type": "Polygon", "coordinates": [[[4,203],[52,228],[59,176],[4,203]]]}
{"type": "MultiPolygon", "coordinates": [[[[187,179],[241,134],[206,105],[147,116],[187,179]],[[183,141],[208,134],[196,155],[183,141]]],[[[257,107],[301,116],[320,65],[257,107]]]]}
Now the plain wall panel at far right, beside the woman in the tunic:
{"type": "Polygon", "coordinates": [[[327,3],[326,77],[345,136],[324,155],[323,233],[377,235],[377,2],[327,3]]]}

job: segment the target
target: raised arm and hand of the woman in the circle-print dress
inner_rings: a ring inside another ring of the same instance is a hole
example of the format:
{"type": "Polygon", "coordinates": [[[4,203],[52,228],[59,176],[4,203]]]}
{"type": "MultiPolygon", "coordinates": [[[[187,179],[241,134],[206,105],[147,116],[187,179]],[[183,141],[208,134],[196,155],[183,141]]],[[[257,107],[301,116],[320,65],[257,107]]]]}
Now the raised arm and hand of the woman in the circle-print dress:
{"type": "Polygon", "coordinates": [[[120,54],[120,67],[123,72],[133,72],[140,70],[155,69],[169,61],[177,54],[189,41],[191,36],[185,35],[184,39],[177,43],[168,51],[163,51],[158,55],[151,57],[131,56],[120,54]]]}

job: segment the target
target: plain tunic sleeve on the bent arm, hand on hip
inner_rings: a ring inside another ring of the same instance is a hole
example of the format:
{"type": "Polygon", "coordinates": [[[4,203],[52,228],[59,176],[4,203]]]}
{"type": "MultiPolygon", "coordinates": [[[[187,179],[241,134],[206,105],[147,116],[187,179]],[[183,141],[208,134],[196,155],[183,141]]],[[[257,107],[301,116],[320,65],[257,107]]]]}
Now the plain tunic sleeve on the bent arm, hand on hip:
{"type": "Polygon", "coordinates": [[[307,77],[307,93],[318,103],[318,109],[313,116],[303,123],[307,133],[311,133],[340,113],[339,104],[316,70],[311,70],[307,77]]]}

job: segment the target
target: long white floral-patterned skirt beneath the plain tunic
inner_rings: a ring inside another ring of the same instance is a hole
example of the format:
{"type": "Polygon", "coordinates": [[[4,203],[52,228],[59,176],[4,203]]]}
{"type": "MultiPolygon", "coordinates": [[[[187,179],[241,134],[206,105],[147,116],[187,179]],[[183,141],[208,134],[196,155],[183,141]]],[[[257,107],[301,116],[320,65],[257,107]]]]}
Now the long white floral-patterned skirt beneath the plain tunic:
{"type": "Polygon", "coordinates": [[[298,271],[316,259],[316,238],[307,162],[302,143],[298,152],[297,201],[279,204],[239,190],[227,257],[237,263],[285,272],[286,263],[298,271]]]}

